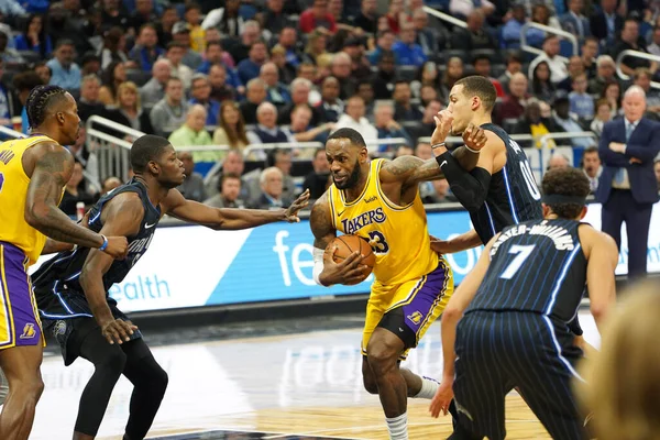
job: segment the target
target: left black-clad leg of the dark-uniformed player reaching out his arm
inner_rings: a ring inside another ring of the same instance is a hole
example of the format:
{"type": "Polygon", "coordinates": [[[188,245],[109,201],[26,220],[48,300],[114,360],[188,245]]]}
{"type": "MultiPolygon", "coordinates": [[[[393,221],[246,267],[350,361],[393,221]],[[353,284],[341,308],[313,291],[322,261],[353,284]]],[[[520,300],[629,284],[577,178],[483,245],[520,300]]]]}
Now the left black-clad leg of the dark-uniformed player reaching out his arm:
{"type": "Polygon", "coordinates": [[[119,344],[110,344],[92,318],[76,318],[76,330],[67,348],[94,364],[94,374],[82,391],[74,440],[94,439],[108,408],[112,389],[127,364],[119,344]]]}

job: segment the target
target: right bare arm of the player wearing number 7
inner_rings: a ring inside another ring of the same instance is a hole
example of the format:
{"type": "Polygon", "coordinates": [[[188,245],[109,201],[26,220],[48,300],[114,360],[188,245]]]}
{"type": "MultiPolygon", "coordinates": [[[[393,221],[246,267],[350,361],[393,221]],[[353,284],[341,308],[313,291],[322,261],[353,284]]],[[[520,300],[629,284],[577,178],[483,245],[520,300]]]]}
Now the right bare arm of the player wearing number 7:
{"type": "Polygon", "coordinates": [[[581,226],[580,242],[586,255],[586,285],[590,309],[601,330],[603,322],[616,304],[616,265],[618,249],[614,239],[590,226],[581,226]]]}

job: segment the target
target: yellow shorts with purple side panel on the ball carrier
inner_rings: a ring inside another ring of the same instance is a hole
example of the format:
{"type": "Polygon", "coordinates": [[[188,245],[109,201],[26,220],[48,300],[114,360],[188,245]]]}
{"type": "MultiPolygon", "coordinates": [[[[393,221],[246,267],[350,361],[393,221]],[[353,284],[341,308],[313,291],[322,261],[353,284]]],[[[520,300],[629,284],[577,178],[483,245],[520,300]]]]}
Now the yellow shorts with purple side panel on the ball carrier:
{"type": "Polygon", "coordinates": [[[366,305],[362,354],[366,355],[366,346],[376,327],[383,327],[404,341],[406,350],[400,360],[405,360],[442,314],[453,288],[453,274],[443,257],[439,258],[433,272],[420,278],[398,285],[375,282],[366,305]]]}

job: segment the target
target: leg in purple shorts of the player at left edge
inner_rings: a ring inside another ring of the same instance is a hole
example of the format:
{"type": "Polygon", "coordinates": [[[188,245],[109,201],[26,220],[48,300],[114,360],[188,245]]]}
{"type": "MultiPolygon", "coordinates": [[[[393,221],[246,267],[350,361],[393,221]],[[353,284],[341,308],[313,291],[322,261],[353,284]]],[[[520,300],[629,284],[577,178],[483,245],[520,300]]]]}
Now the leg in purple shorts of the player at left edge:
{"type": "Polygon", "coordinates": [[[9,394],[0,415],[0,439],[28,439],[44,388],[40,366],[43,332],[25,270],[25,255],[0,243],[0,367],[9,394]]]}

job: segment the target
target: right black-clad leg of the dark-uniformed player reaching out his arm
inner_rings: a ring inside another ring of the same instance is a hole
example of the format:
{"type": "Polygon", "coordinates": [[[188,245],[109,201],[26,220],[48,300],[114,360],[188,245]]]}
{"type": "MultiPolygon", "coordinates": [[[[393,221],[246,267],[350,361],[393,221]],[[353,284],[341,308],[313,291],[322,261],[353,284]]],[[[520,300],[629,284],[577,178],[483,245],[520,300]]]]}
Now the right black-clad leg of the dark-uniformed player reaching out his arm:
{"type": "Polygon", "coordinates": [[[122,349],[127,354],[123,374],[134,387],[124,440],[142,440],[161,407],[167,388],[167,373],[142,338],[124,343],[122,349]]]}

